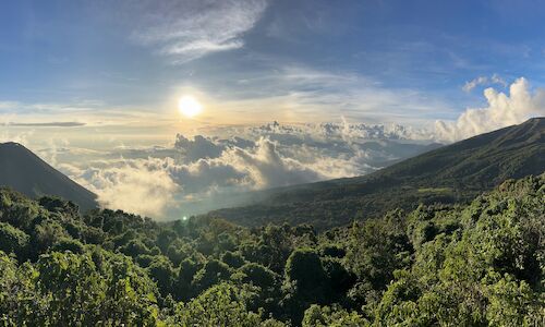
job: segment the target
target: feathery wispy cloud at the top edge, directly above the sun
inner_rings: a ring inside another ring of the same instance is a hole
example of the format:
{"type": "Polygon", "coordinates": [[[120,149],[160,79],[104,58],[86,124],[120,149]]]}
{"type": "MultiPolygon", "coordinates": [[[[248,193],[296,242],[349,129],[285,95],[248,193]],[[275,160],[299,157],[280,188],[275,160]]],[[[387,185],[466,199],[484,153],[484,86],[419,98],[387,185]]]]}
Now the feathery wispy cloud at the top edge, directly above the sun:
{"type": "Polygon", "coordinates": [[[244,33],[252,29],[267,7],[264,0],[144,2],[142,22],[133,37],[173,63],[184,63],[211,52],[242,48],[244,33]]]}

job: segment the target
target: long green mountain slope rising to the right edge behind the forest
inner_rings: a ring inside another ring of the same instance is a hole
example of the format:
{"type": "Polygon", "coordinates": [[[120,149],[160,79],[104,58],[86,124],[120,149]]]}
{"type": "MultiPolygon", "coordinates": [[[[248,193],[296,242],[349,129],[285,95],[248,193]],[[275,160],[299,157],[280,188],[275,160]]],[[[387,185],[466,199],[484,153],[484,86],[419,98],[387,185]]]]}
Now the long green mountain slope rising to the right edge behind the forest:
{"type": "Polygon", "coordinates": [[[468,202],[506,179],[545,170],[545,118],[481,134],[364,177],[278,189],[265,201],[209,213],[246,226],[313,223],[317,229],[419,204],[468,202]]]}

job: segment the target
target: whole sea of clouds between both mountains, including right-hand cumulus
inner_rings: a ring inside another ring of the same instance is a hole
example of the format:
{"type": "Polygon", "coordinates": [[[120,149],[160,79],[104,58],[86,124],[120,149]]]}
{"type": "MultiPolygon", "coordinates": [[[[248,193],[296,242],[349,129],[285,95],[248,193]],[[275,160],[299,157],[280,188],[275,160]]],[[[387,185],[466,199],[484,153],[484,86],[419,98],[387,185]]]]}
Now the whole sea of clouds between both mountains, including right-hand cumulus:
{"type": "Polygon", "coordinates": [[[524,78],[508,93],[484,90],[486,105],[428,126],[317,123],[223,128],[182,135],[169,146],[89,150],[50,146],[40,155],[98,195],[101,205],[172,219],[241,205],[251,191],[366,174],[502,126],[545,116],[545,92],[524,78]],[[221,136],[219,136],[221,135],[221,136]]]}

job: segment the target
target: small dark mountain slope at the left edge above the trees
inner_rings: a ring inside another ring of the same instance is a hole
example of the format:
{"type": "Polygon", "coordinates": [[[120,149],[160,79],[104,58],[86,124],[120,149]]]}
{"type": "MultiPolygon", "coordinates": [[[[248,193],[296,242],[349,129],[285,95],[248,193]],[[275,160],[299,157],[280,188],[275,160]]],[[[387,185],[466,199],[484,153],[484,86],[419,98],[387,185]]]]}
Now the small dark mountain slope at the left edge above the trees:
{"type": "Polygon", "coordinates": [[[97,207],[96,195],[75,183],[21,144],[0,144],[0,185],[31,197],[56,195],[82,210],[97,207]]]}

